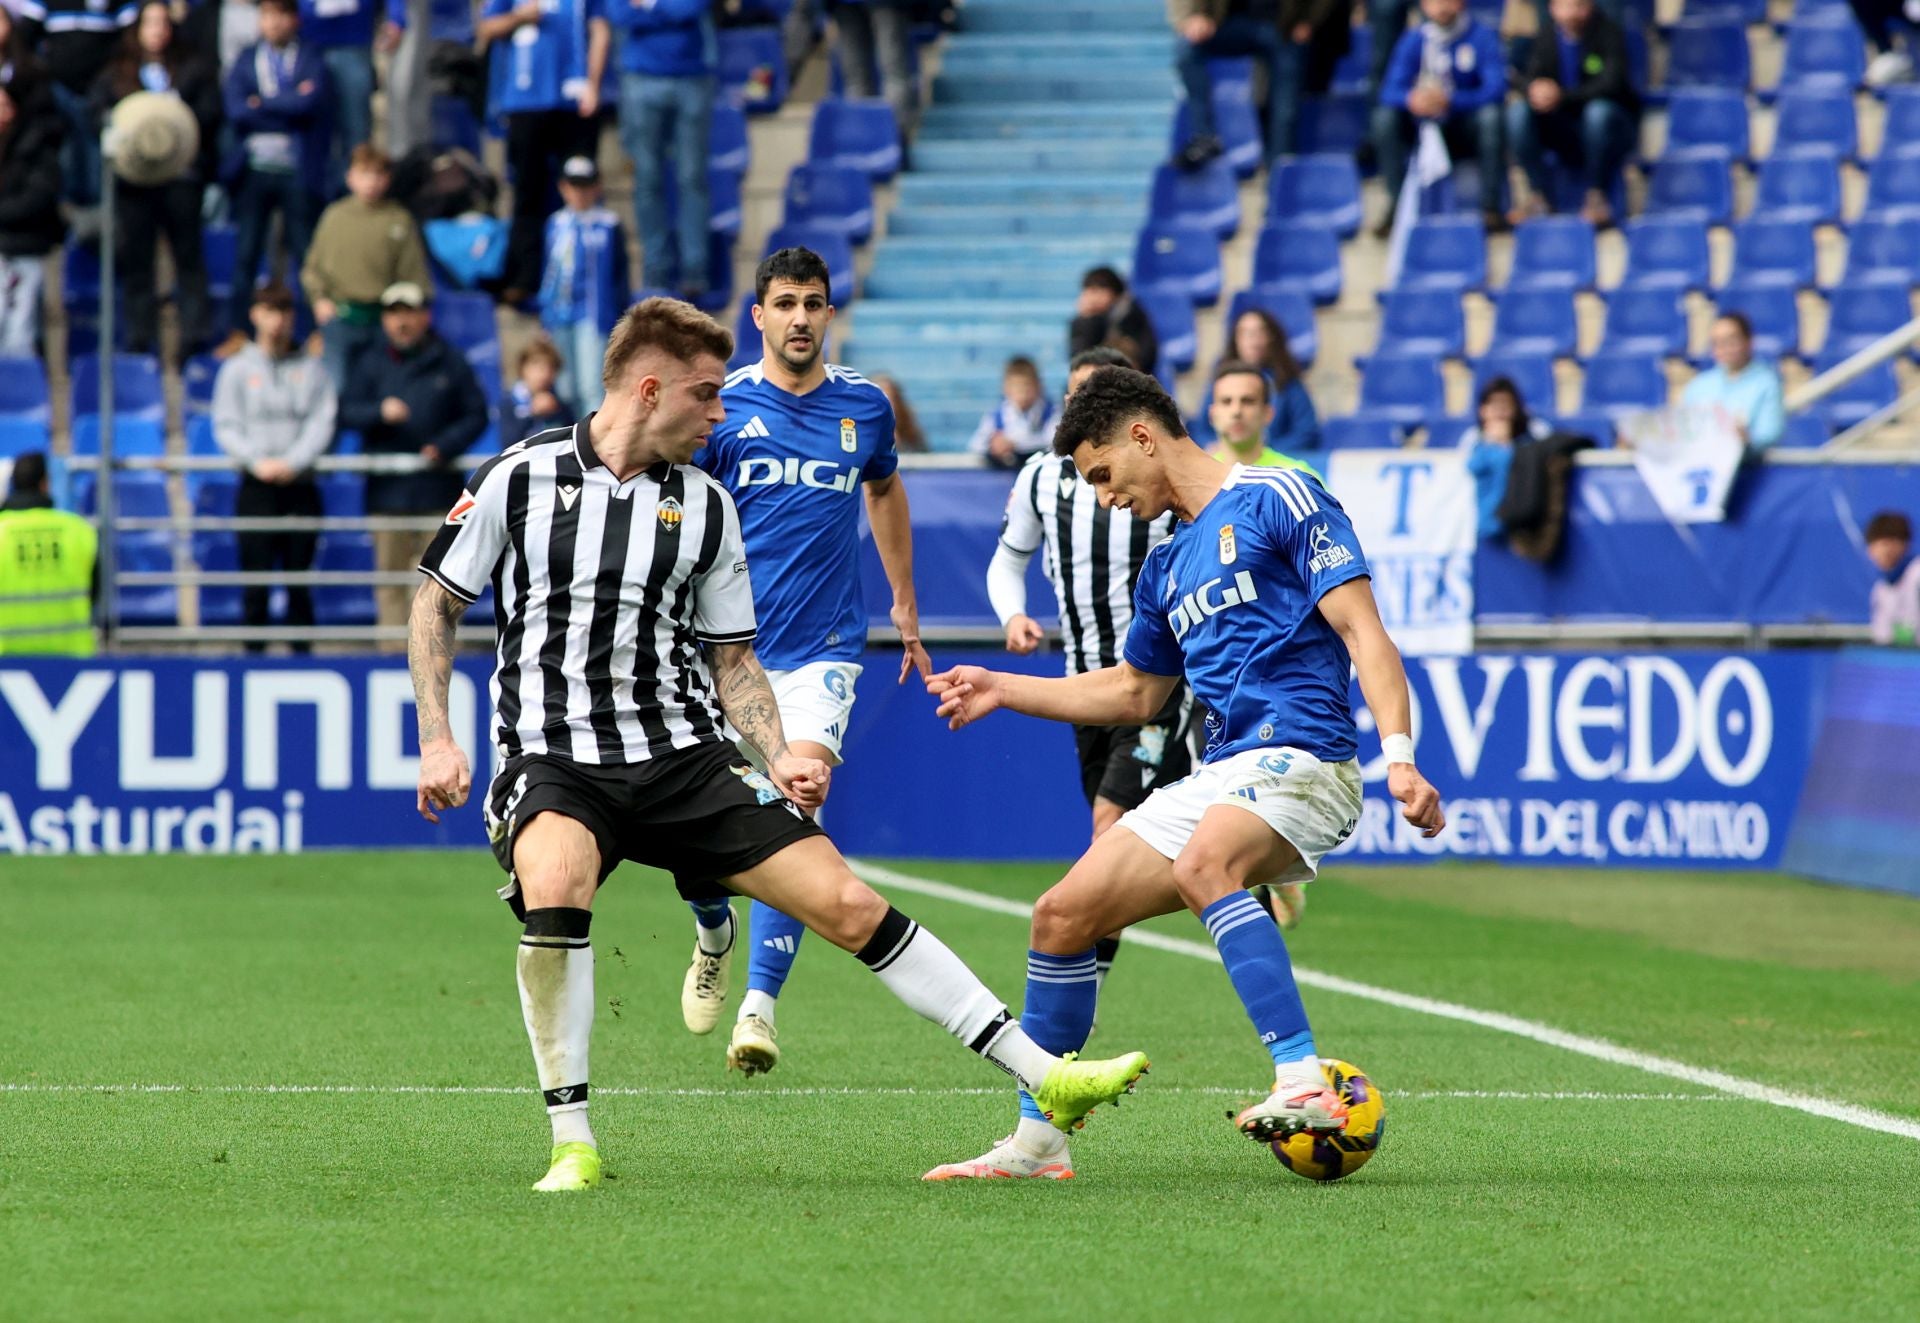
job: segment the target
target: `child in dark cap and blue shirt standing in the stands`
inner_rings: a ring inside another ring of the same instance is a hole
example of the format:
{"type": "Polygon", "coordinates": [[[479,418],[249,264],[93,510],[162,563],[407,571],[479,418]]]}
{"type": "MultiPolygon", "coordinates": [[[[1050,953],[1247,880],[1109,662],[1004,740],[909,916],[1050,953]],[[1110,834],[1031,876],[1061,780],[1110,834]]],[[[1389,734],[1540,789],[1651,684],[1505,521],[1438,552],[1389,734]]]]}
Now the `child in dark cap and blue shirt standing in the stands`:
{"type": "Polygon", "coordinates": [[[547,219],[547,269],[540,284],[540,321],[553,336],[566,371],[561,397],[574,413],[599,409],[607,334],[634,298],[626,275],[626,229],[601,205],[599,167],[576,156],[561,167],[561,200],[547,219]]]}

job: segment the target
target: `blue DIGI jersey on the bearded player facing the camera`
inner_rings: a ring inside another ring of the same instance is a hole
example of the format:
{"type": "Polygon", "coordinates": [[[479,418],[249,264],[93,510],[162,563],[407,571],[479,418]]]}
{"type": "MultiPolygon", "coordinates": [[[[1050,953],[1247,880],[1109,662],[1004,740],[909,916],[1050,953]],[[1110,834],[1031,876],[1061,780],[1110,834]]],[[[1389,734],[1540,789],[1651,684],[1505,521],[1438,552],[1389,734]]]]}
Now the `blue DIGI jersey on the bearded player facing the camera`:
{"type": "Polygon", "coordinates": [[[900,465],[893,405],[874,382],[831,365],[820,386],[791,396],[753,363],[726,378],[720,399],[726,422],[693,463],[739,509],[760,626],[753,651],[768,670],[858,661],[860,484],[900,465]]]}

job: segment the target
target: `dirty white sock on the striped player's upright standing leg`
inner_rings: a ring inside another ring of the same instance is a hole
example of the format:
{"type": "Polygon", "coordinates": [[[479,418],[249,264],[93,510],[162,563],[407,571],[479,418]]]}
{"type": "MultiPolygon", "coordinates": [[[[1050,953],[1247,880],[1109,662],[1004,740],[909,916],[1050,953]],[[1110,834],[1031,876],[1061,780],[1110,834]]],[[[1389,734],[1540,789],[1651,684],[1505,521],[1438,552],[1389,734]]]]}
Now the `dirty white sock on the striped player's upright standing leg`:
{"type": "Polygon", "coordinates": [[[588,1125],[588,1039],[593,1037],[593,947],[588,910],[528,910],[520,937],[520,1014],[534,1045],[553,1143],[593,1143],[588,1125]]]}

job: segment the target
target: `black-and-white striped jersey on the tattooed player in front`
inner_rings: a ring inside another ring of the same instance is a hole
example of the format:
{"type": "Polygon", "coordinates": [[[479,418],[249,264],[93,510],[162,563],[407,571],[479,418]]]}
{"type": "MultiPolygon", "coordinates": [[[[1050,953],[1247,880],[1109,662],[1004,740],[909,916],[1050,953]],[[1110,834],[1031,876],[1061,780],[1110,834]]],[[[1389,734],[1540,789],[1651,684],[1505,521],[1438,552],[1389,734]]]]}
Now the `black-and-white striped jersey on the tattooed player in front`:
{"type": "Polygon", "coordinates": [[[474,472],[420,572],[465,601],[493,584],[501,760],[724,739],[699,645],[753,639],[753,586],[733,499],[699,469],[616,482],[584,419],[540,432],[474,472]]]}

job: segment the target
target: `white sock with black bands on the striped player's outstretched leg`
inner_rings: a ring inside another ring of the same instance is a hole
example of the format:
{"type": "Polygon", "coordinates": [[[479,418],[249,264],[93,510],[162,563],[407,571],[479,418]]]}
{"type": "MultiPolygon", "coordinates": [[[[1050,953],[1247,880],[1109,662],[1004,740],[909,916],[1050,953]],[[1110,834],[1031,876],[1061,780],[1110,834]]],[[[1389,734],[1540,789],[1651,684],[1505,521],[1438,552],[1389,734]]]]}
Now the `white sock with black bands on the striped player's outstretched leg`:
{"type": "Polygon", "coordinates": [[[889,993],[1018,1079],[1021,1089],[1039,1089],[1060,1060],[1027,1037],[1006,1014],[1006,1002],[947,943],[899,910],[887,908],[858,954],[889,993]]]}

